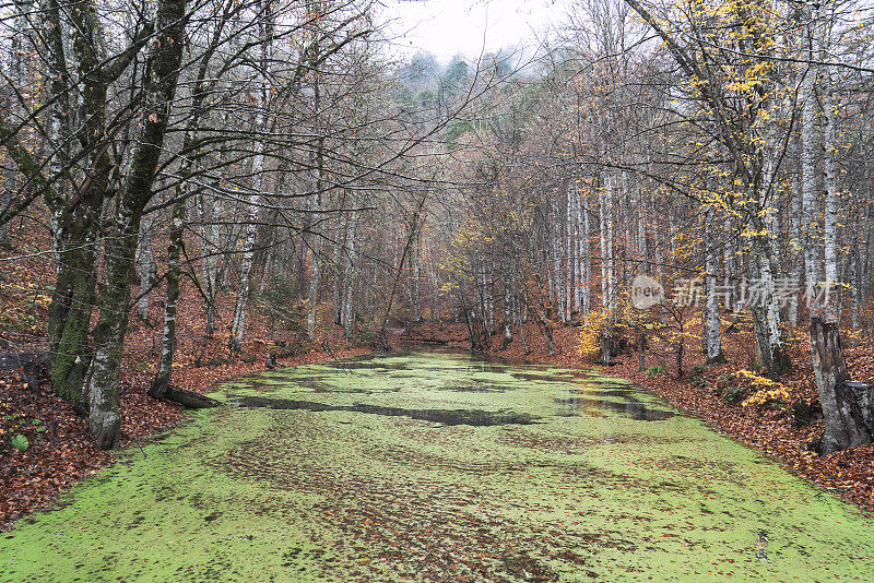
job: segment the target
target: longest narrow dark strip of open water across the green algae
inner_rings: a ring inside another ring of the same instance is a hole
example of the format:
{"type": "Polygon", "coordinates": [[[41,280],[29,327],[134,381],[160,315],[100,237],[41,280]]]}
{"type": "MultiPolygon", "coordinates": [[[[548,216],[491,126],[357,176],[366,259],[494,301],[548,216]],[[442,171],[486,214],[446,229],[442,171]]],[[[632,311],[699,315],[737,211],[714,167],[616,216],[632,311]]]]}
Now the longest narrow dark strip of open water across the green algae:
{"type": "Polygon", "coordinates": [[[270,398],[265,396],[238,395],[234,401],[245,408],[263,407],[271,409],[303,409],[303,411],[347,411],[369,415],[385,415],[389,417],[410,417],[424,421],[444,425],[471,425],[473,427],[489,427],[495,425],[531,425],[540,417],[527,413],[511,411],[481,411],[481,409],[405,409],[400,407],[385,407],[380,405],[329,405],[312,401],[296,401],[292,398],[270,398]]]}

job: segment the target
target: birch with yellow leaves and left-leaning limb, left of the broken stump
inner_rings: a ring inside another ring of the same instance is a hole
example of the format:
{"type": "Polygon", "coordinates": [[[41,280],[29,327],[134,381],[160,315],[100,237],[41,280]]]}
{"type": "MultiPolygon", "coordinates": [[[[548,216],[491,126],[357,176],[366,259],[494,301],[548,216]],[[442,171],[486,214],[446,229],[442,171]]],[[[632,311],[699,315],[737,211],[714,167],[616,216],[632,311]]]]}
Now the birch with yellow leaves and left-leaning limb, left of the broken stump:
{"type": "MultiPolygon", "coordinates": [[[[768,51],[771,47],[767,8],[735,7],[736,13],[721,17],[744,21],[745,34],[721,37],[718,28],[706,26],[706,7],[695,8],[687,16],[665,9],[662,11],[664,17],[660,17],[638,0],[626,0],[626,3],[664,43],[689,82],[689,91],[700,99],[708,114],[713,128],[712,138],[718,140],[732,159],[736,183],[743,189],[743,194],[732,194],[724,202],[748,225],[746,233],[753,258],[749,267],[761,290],[761,301],[751,306],[756,340],[768,374],[779,377],[789,370],[791,364],[783,344],[778,305],[773,299],[776,262],[766,224],[766,205],[773,192],[773,185],[765,182],[768,178],[768,147],[759,120],[760,112],[769,108],[769,92],[772,88],[767,76],[770,70],[768,51]],[[675,17],[678,20],[672,21],[675,17]],[[684,40],[688,36],[681,25],[687,27],[693,40],[684,40]],[[734,62],[722,62],[720,59],[725,52],[701,51],[697,48],[699,44],[708,47],[728,45],[728,49],[752,53],[757,56],[757,60],[746,61],[740,67],[734,62]],[[740,82],[741,74],[745,79],[752,76],[752,80],[740,82]]],[[[770,179],[773,179],[773,175],[770,179]]]]}

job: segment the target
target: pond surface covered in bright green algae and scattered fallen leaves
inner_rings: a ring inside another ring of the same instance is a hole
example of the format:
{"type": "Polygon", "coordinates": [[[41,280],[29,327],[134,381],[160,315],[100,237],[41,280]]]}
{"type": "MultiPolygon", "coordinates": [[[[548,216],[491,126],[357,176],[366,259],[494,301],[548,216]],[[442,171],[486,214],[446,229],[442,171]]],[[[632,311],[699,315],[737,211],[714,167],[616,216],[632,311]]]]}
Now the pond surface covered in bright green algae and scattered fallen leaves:
{"type": "Polygon", "coordinates": [[[0,581],[874,580],[874,521],[619,381],[423,352],[213,396],[0,581]]]}

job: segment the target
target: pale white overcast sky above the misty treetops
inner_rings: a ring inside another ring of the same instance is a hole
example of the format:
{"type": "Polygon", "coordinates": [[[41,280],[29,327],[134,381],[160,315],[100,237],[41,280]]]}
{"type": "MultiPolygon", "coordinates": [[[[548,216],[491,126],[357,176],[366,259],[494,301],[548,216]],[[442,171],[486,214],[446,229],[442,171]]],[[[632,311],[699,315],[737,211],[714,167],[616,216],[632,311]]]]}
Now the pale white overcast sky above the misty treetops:
{"type": "Polygon", "coordinates": [[[535,44],[565,19],[570,0],[386,0],[383,17],[399,50],[447,62],[504,47],[535,44]]]}

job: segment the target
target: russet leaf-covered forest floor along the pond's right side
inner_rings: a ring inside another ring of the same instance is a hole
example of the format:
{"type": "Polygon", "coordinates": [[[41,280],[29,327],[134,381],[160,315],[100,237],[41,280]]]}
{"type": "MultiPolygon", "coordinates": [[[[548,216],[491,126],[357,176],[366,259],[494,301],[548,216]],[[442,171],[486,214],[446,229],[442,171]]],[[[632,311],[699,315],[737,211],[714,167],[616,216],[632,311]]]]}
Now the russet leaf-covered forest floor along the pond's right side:
{"type": "MultiPolygon", "coordinates": [[[[723,322],[728,328],[730,322],[723,322]]],[[[700,330],[689,325],[689,330],[700,330]]],[[[795,474],[834,492],[842,500],[874,512],[874,444],[852,448],[819,456],[808,443],[823,435],[824,423],[801,415],[806,406],[818,404],[806,330],[790,331],[788,348],[793,368],[790,374],[772,383],[755,373],[755,340],[751,330],[735,326],[734,334],[723,334],[727,362],[704,366],[706,356],[700,338],[687,340],[683,359],[684,376],[676,374],[676,350],[654,337],[646,355],[645,370],[639,369],[639,353],[628,348],[615,358],[614,366],[599,366],[594,356],[580,354],[583,329],[558,328],[553,331],[556,355],[550,356],[546,343],[533,323],[525,324],[525,354],[518,329],[513,340],[501,349],[501,335],[493,336],[491,354],[511,362],[550,364],[567,368],[594,368],[604,374],[623,378],[666,398],[684,413],[708,421],[717,431],[786,463],[795,474]],[[569,346],[569,342],[571,343],[569,346]],[[694,345],[697,344],[697,345],[694,345]],[[661,370],[663,369],[663,370],[661,370]],[[798,405],[793,407],[793,405],[798,405]]],[[[440,342],[450,346],[470,346],[463,324],[422,323],[406,335],[415,342],[440,342]]],[[[845,338],[850,378],[874,383],[874,343],[853,335],[845,338]]]]}

